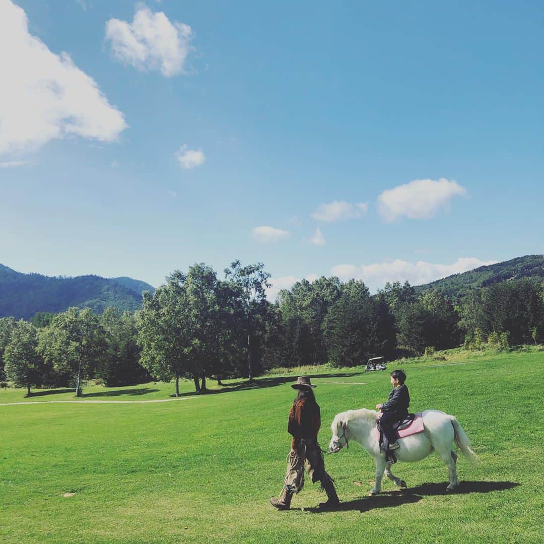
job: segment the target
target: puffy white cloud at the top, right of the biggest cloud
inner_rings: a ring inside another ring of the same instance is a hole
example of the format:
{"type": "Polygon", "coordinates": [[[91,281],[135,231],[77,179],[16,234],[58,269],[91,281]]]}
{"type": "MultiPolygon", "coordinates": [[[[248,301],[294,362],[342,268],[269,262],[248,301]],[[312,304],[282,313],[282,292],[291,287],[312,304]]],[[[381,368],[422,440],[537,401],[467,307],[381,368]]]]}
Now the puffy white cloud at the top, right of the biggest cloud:
{"type": "Polygon", "coordinates": [[[117,60],[138,70],[160,70],[166,77],[184,71],[192,39],[188,24],[172,23],[162,11],[153,13],[145,5],[138,7],[132,23],[106,22],[106,41],[117,60]]]}

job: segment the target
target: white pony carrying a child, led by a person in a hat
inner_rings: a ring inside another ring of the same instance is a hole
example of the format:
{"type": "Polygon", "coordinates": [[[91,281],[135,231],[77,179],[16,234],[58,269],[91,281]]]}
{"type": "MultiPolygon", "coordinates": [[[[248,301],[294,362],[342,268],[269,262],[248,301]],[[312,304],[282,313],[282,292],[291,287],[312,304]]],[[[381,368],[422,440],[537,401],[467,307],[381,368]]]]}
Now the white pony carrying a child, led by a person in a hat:
{"type": "MultiPolygon", "coordinates": [[[[358,442],[373,456],[376,462],[376,481],[371,495],[381,491],[381,479],[385,475],[393,480],[395,485],[406,487],[406,482],[391,473],[391,468],[385,460],[385,453],[380,451],[379,432],[376,422],[380,418],[380,412],[361,408],[360,410],[348,410],[339,413],[333,420],[332,438],[329,444],[329,452],[336,453],[346,446],[349,441],[358,442]]],[[[439,410],[425,410],[422,412],[424,430],[415,435],[399,438],[399,448],[394,451],[398,461],[421,461],[432,450],[440,455],[449,471],[448,491],[452,491],[459,485],[455,463],[457,455],[452,451],[453,441],[458,445],[461,453],[471,461],[477,461],[476,454],[471,449],[471,441],[454,416],[439,410]]]]}

